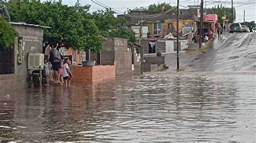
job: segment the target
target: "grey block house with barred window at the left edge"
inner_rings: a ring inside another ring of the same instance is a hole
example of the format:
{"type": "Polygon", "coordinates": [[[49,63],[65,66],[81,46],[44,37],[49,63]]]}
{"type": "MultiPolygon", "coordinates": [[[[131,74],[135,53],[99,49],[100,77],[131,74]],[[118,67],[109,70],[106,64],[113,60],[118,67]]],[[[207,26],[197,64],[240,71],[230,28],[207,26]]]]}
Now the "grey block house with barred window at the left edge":
{"type": "Polygon", "coordinates": [[[0,47],[0,89],[29,87],[28,54],[42,53],[44,28],[41,25],[26,23],[10,24],[18,32],[14,47],[0,47]]]}

